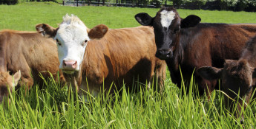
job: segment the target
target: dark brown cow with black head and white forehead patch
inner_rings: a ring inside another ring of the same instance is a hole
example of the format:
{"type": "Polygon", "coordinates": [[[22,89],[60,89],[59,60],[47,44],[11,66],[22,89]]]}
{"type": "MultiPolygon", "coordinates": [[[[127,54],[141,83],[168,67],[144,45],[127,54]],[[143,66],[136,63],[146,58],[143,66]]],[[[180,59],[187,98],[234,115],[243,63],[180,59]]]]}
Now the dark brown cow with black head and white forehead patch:
{"type": "Polygon", "coordinates": [[[199,94],[208,96],[218,88],[217,80],[200,77],[197,69],[221,68],[225,59],[237,60],[246,41],[256,32],[256,24],[200,23],[197,15],[180,18],[174,7],[163,7],[154,18],[148,13],[138,13],[135,18],[144,26],[154,27],[156,56],[167,63],[171,81],[180,88],[183,75],[189,86],[186,83],[194,73],[199,94]]]}

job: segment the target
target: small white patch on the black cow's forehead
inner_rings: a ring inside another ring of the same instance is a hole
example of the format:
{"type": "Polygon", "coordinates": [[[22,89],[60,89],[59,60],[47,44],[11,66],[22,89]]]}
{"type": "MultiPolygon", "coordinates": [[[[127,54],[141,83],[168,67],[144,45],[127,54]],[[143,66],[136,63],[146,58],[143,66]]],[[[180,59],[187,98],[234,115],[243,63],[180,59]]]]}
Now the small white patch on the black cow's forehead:
{"type": "Polygon", "coordinates": [[[163,10],[161,13],[161,24],[163,27],[168,28],[171,25],[171,21],[174,20],[174,11],[163,10]]]}

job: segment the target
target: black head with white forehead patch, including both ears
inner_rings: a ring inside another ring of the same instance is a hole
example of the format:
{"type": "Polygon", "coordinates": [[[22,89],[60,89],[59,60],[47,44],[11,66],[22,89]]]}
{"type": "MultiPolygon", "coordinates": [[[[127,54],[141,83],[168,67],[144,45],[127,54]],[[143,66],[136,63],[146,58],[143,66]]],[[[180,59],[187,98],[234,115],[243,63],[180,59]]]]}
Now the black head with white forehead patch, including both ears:
{"type": "Polygon", "coordinates": [[[173,56],[173,52],[179,45],[177,43],[179,43],[180,29],[195,27],[201,21],[196,15],[180,18],[173,7],[162,8],[154,18],[147,13],[139,13],[135,18],[143,26],[154,27],[156,56],[163,60],[173,56]]]}

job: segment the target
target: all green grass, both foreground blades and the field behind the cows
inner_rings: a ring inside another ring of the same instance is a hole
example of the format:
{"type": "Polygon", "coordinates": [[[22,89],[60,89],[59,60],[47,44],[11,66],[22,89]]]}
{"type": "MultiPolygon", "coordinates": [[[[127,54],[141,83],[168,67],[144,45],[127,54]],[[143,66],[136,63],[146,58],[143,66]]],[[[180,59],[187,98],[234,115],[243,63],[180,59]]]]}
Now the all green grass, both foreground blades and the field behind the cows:
{"type": "MultiPolygon", "coordinates": [[[[88,27],[105,24],[110,28],[137,27],[137,13],[154,16],[159,9],[125,7],[63,7],[55,3],[24,3],[0,5],[0,29],[35,31],[35,25],[62,21],[66,13],[78,15],[88,27]]],[[[181,17],[199,15],[202,22],[256,23],[256,13],[178,10],[181,17]]],[[[191,79],[193,80],[193,78],[191,79]]],[[[11,96],[10,105],[0,105],[0,128],[256,128],[256,104],[245,111],[245,122],[223,108],[223,94],[214,91],[207,97],[194,97],[192,91],[182,96],[167,73],[165,91],[154,90],[122,95],[91,97],[84,102],[68,88],[59,88],[53,80],[45,82],[45,89],[33,86],[27,95],[20,90],[11,96]]],[[[195,86],[191,81],[191,87],[195,86]]]]}

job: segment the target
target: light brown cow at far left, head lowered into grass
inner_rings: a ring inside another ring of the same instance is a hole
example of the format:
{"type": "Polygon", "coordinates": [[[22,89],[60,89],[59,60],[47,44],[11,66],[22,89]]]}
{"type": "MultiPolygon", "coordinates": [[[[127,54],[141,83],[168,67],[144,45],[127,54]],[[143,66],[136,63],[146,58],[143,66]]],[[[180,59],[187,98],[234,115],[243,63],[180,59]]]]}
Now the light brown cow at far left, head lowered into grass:
{"type": "MultiPolygon", "coordinates": [[[[53,39],[43,38],[38,32],[0,31],[0,100],[7,96],[7,88],[11,90],[16,85],[16,88],[24,86],[26,91],[35,83],[42,87],[42,77],[50,78],[49,72],[54,78],[59,72],[57,46],[53,39]]],[[[59,80],[65,83],[62,72],[59,72],[59,80]]]]}

